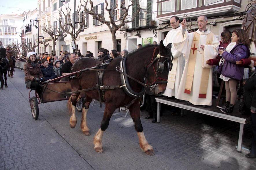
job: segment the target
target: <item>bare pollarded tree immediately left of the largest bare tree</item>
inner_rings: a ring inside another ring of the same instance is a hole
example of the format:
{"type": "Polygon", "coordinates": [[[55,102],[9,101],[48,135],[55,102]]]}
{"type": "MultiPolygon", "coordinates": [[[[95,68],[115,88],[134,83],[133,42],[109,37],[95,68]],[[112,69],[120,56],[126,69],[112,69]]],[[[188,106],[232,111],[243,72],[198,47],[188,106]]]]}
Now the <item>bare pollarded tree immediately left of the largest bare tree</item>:
{"type": "MultiPolygon", "coordinates": [[[[70,9],[69,5],[66,6],[64,4],[64,7],[66,9],[66,12],[64,12],[62,8],[59,10],[59,16],[60,16],[59,21],[60,21],[60,23],[63,23],[63,24],[60,24],[60,30],[63,33],[66,33],[66,36],[68,34],[71,35],[71,38],[74,41],[75,47],[76,47],[76,39],[77,39],[79,33],[83,32],[85,29],[85,12],[80,12],[81,5],[78,5],[77,11],[76,11],[77,12],[77,17],[76,17],[77,21],[76,21],[75,25],[79,24],[79,26],[77,25],[77,28],[76,28],[76,26],[73,25],[74,20],[73,21],[71,20],[71,18],[73,18],[73,16],[71,15],[72,13],[71,13],[71,9],[70,9]],[[80,20],[80,22],[78,22],[79,18],[82,18],[80,20]],[[64,21],[65,21],[65,23],[64,23],[64,21]],[[75,33],[74,33],[74,30],[75,30],[75,33]]],[[[76,15],[76,14],[73,14],[73,15],[76,15]]],[[[77,49],[75,51],[77,51],[77,49]]]]}

